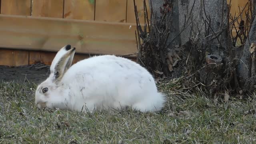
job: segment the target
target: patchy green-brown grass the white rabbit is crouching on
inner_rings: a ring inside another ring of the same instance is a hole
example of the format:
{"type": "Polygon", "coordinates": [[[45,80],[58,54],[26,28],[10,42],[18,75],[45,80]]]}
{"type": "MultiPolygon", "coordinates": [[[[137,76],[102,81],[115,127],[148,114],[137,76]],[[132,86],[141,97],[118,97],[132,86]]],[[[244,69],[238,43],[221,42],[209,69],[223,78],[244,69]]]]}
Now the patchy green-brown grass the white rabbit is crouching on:
{"type": "Polygon", "coordinates": [[[199,89],[187,94],[178,87],[159,86],[169,96],[157,114],[83,114],[37,110],[35,84],[0,82],[0,143],[256,143],[254,98],[224,103],[199,89]]]}

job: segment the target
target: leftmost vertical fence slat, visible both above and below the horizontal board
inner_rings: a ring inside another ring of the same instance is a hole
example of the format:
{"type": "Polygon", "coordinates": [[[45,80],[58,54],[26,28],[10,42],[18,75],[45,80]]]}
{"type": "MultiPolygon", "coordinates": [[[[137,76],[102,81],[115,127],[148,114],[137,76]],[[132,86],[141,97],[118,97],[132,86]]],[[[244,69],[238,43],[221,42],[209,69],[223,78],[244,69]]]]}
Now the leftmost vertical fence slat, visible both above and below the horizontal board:
{"type": "MultiPolygon", "coordinates": [[[[31,0],[1,0],[1,14],[31,15],[31,0]]],[[[27,50],[12,50],[0,48],[0,65],[27,65],[29,52],[27,50]]]]}

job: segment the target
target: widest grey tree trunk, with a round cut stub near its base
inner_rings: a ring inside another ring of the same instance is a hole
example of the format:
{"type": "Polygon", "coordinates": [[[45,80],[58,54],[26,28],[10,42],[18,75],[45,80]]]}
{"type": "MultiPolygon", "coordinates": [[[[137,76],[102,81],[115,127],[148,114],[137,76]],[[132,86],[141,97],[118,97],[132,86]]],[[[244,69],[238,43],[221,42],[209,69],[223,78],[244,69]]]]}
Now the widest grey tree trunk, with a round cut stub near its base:
{"type": "Polygon", "coordinates": [[[189,53],[190,75],[195,73],[193,79],[206,85],[212,95],[223,91],[228,83],[222,80],[226,76],[230,44],[227,1],[179,0],[178,6],[181,43],[189,53]],[[222,61],[209,64],[212,62],[206,61],[208,54],[215,54],[214,58],[222,61]]]}

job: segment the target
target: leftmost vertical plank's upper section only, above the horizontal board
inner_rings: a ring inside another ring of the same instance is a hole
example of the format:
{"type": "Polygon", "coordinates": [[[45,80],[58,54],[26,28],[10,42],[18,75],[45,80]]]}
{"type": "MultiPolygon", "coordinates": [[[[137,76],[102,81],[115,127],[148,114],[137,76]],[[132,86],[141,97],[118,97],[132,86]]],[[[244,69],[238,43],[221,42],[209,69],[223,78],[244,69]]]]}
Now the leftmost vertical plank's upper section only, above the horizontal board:
{"type": "Polygon", "coordinates": [[[31,15],[31,0],[1,0],[1,14],[31,15]]]}

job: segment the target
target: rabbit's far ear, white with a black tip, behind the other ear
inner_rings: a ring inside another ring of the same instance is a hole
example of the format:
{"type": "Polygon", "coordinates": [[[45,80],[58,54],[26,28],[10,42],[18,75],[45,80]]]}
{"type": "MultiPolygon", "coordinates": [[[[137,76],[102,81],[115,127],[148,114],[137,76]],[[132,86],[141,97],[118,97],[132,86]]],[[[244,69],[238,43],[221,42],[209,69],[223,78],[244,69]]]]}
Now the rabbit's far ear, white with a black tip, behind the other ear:
{"type": "MultiPolygon", "coordinates": [[[[55,66],[56,66],[56,64],[60,61],[60,58],[62,58],[62,56],[64,56],[65,54],[67,54],[70,49],[71,49],[71,45],[68,44],[68,45],[64,46],[63,48],[61,48],[61,49],[57,52],[56,56],[55,56],[54,59],[52,60],[51,66],[50,66],[50,72],[51,72],[51,74],[54,73],[55,66]]],[[[74,56],[74,55],[70,56],[70,58],[73,59],[73,56],[74,56]]],[[[72,63],[72,60],[71,60],[71,63],[72,63]]],[[[67,68],[69,68],[69,67],[71,66],[71,63],[67,65],[67,68]]]]}

